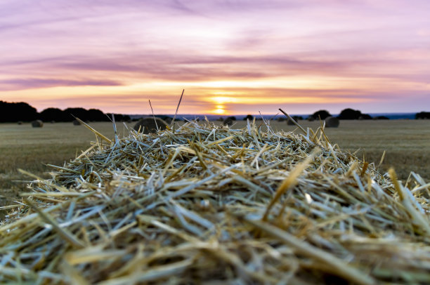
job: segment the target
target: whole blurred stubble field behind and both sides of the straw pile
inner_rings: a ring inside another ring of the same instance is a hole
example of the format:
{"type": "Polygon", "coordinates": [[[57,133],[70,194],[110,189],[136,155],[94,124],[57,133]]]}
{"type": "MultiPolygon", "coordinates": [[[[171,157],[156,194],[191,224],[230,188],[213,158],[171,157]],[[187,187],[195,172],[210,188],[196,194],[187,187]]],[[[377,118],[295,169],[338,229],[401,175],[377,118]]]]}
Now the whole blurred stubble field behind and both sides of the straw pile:
{"type": "MultiPolygon", "coordinates": [[[[256,124],[261,123],[256,121],[256,124]]],[[[133,124],[127,123],[130,128],[133,124]]],[[[235,121],[231,128],[242,128],[245,124],[245,121],[235,121]]],[[[299,124],[313,130],[320,126],[319,121],[299,121],[299,124]]],[[[112,124],[90,125],[108,138],[113,137],[112,124]]],[[[285,121],[271,121],[271,127],[300,132],[285,121]]],[[[127,133],[123,123],[117,123],[117,129],[119,135],[127,133]]],[[[341,121],[339,128],[325,131],[332,143],[376,165],[385,150],[382,173],[393,166],[401,180],[406,180],[410,171],[414,171],[430,181],[430,120],[341,121]]],[[[46,164],[63,166],[65,161],[90,147],[94,140],[96,136],[91,131],[72,123],[44,124],[43,128],[32,128],[30,124],[0,124],[0,206],[8,204],[8,197],[18,197],[19,192],[25,191],[26,183],[16,181],[31,179],[19,173],[18,168],[49,178],[50,168],[46,164]]]]}

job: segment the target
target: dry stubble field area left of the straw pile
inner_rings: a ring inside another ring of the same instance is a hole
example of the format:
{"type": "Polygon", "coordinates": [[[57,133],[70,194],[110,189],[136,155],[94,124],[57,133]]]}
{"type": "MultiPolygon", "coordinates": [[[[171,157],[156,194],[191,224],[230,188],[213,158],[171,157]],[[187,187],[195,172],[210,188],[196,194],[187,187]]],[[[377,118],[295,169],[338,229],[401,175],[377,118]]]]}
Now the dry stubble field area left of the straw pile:
{"type": "MultiPolygon", "coordinates": [[[[103,133],[112,134],[112,124],[92,123],[103,133]]],[[[124,128],[119,127],[124,133],[124,128]]],[[[43,128],[32,128],[31,124],[0,124],[0,206],[8,204],[5,195],[17,197],[25,191],[28,180],[18,172],[25,169],[41,178],[48,178],[51,168],[46,164],[62,166],[86,150],[95,135],[84,126],[72,123],[45,124],[43,128]]],[[[3,211],[0,211],[0,219],[3,211]]]]}

